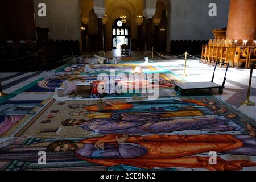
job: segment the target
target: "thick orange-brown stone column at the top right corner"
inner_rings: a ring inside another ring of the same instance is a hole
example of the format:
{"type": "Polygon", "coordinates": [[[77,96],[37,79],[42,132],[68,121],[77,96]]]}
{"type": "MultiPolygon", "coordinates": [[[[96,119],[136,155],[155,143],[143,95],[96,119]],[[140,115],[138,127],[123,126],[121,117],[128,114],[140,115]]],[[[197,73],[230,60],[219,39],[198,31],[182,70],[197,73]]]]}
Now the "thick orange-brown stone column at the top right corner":
{"type": "Polygon", "coordinates": [[[230,0],[226,38],[256,40],[255,12],[255,0],[230,0]]]}

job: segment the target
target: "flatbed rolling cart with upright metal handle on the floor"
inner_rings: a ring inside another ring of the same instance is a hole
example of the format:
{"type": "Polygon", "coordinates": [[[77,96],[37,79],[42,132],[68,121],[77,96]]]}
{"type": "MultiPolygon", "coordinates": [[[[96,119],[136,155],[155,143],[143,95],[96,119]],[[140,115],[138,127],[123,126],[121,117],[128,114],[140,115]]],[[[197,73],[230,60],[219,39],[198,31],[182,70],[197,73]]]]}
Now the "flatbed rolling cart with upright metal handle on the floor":
{"type": "Polygon", "coordinates": [[[181,89],[181,96],[185,96],[185,94],[188,92],[188,90],[202,90],[202,89],[218,89],[218,93],[222,94],[223,89],[225,88],[225,82],[226,82],[226,73],[228,72],[229,63],[220,63],[226,65],[226,72],[224,76],[224,80],[222,85],[216,84],[213,82],[215,77],[215,71],[217,67],[217,62],[215,64],[212,81],[210,82],[190,82],[190,83],[184,83],[184,84],[175,84],[174,90],[177,92],[179,89],[181,89]]]}

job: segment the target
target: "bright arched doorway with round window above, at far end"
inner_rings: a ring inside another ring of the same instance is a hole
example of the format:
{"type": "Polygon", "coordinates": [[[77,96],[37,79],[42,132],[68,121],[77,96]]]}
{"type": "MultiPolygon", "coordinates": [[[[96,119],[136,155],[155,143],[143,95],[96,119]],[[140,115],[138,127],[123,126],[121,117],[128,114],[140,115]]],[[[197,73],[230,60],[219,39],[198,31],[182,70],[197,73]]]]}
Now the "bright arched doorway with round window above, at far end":
{"type": "Polygon", "coordinates": [[[130,45],[131,28],[122,23],[120,18],[115,19],[112,26],[112,47],[113,49],[121,49],[123,44],[130,45]]]}

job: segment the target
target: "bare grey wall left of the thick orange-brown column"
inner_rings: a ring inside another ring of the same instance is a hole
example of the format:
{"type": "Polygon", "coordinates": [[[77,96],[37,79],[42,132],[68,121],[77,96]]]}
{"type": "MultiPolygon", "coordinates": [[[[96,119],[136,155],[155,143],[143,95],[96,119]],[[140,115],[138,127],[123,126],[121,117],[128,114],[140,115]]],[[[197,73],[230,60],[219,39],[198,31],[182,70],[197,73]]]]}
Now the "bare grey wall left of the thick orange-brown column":
{"type": "Polygon", "coordinates": [[[212,30],[225,28],[228,14],[229,0],[171,0],[169,40],[213,39],[212,30]],[[209,16],[210,3],[216,3],[217,17],[209,16]]]}

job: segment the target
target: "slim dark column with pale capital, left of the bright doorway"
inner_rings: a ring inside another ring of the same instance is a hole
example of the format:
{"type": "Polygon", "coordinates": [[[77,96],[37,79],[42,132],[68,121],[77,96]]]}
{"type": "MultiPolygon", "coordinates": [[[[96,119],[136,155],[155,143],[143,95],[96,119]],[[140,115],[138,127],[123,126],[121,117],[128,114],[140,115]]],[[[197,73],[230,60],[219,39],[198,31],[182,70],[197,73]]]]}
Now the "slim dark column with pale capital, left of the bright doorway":
{"type": "Polygon", "coordinates": [[[105,16],[104,7],[94,7],[95,14],[98,17],[98,41],[97,41],[97,51],[104,51],[104,28],[102,23],[102,18],[105,16]]]}

